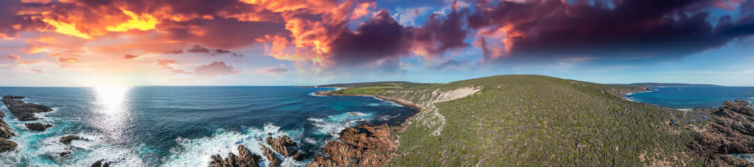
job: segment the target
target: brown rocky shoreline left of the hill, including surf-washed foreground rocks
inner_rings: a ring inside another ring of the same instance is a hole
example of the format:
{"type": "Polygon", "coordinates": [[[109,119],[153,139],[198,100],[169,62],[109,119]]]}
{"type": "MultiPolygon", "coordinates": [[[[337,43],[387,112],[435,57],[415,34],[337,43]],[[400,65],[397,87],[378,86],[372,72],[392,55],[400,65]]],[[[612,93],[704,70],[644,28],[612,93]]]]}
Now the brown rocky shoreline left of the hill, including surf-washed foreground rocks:
{"type": "MultiPolygon", "coordinates": [[[[342,95],[336,94],[333,90],[320,91],[313,93],[316,96],[368,96],[375,97],[383,101],[395,102],[398,105],[414,108],[421,112],[423,108],[412,102],[401,99],[391,99],[384,96],[373,95],[342,95]]],[[[408,120],[410,117],[406,117],[408,120]]],[[[399,126],[388,126],[388,123],[375,125],[373,123],[360,122],[357,126],[348,127],[339,132],[340,137],[336,141],[329,141],[314,156],[314,160],[307,164],[308,167],[323,166],[384,166],[392,159],[400,143],[398,137],[393,134],[406,127],[400,121],[399,126]]],[[[261,141],[261,139],[258,139],[261,141]]],[[[288,136],[272,138],[268,134],[266,143],[270,147],[260,144],[263,155],[251,153],[243,144],[238,146],[238,153],[235,155],[228,153],[225,159],[219,154],[211,156],[210,167],[256,167],[264,163],[262,158],[268,159],[269,166],[280,166],[282,158],[293,157],[300,159],[298,144],[292,141],[288,136]],[[274,152],[272,151],[274,150],[274,152]]]]}

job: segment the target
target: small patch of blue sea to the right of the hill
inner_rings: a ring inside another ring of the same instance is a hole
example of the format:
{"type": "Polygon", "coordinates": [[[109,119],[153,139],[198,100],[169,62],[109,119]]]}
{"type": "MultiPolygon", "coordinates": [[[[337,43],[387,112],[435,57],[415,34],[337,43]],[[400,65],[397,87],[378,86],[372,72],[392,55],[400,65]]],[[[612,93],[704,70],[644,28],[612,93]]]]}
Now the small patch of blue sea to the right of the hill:
{"type": "Polygon", "coordinates": [[[630,100],[667,108],[717,108],[726,100],[754,101],[754,87],[651,87],[646,93],[627,95],[630,100]]]}

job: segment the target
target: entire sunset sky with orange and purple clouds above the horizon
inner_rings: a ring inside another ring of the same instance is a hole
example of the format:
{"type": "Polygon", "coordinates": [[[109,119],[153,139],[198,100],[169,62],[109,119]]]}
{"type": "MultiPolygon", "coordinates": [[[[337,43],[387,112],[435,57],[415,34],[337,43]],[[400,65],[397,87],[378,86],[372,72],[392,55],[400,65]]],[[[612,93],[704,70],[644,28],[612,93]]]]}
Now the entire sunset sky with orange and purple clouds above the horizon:
{"type": "Polygon", "coordinates": [[[2,0],[0,86],[754,86],[749,0],[2,0]]]}

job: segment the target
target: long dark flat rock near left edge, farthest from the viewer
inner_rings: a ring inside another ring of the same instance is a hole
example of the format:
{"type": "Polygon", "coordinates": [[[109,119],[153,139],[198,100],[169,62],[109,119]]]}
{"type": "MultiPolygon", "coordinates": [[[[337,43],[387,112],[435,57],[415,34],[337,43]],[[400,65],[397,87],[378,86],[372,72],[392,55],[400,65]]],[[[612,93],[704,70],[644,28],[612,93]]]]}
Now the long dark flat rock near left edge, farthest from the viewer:
{"type": "Polygon", "coordinates": [[[43,112],[49,112],[52,111],[52,108],[48,108],[44,105],[37,105],[34,103],[26,103],[17,99],[23,99],[23,96],[3,96],[2,102],[5,103],[5,106],[8,107],[8,110],[11,111],[11,114],[13,114],[18,120],[26,121],[26,120],[39,120],[38,117],[34,116],[34,113],[43,113],[43,112]]]}

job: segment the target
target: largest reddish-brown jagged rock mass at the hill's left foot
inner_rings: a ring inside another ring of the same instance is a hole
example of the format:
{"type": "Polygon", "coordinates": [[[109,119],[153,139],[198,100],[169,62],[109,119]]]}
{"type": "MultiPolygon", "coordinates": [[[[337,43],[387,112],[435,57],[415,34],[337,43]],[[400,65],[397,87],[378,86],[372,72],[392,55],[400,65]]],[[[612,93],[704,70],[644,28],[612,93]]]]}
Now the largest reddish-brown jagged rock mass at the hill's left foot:
{"type": "Polygon", "coordinates": [[[340,141],[330,141],[307,167],[383,166],[390,161],[398,143],[384,123],[360,123],[341,132],[340,141]]]}

